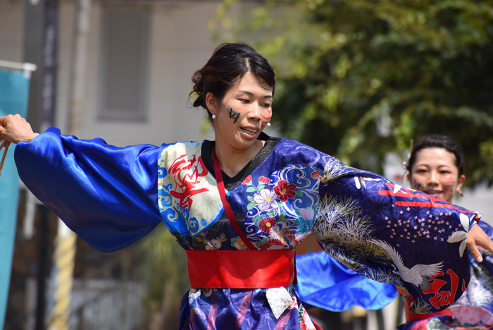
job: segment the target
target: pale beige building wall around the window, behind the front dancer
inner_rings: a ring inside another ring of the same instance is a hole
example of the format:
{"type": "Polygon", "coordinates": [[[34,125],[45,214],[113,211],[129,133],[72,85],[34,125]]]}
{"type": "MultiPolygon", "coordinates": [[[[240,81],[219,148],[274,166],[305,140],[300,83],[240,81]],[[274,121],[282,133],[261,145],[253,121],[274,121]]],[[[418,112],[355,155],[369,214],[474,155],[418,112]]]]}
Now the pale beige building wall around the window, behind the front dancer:
{"type": "MultiPolygon", "coordinates": [[[[190,77],[208,59],[214,46],[207,23],[217,3],[156,4],[151,6],[148,116],[146,121],[100,121],[101,4],[93,2],[87,57],[87,90],[80,138],[101,137],[114,145],[201,140],[204,112],[187,106],[190,77]]],[[[74,4],[61,5],[60,73],[57,126],[68,127],[68,80],[74,4]]]]}

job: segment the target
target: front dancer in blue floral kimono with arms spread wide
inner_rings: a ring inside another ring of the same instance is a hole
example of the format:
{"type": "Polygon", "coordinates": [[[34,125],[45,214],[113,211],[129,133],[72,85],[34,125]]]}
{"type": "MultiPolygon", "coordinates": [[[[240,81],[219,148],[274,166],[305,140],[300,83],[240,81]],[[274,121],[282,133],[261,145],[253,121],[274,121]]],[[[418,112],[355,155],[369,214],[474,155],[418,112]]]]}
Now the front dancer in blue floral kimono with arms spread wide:
{"type": "Polygon", "coordinates": [[[406,288],[430,312],[469,281],[452,233],[474,256],[475,245],[493,251],[478,213],[263,133],[275,77],[251,47],[220,45],[192,81],[215,141],[119,148],[0,118],[1,137],[18,143],[20,178],[92,247],[118,250],[165,222],[187,250],[181,329],[316,329],[292,286],[294,247],[312,232],[332,257],[406,288]]]}

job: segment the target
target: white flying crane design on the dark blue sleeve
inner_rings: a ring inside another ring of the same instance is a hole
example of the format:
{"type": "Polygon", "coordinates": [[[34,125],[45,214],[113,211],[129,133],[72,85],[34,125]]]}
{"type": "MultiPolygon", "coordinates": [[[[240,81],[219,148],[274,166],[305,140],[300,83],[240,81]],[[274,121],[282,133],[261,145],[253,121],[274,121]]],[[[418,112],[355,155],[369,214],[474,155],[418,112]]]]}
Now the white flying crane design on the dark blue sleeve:
{"type": "Polygon", "coordinates": [[[391,264],[394,267],[392,273],[401,276],[401,279],[413,284],[413,286],[417,286],[420,290],[430,289],[430,277],[442,271],[443,262],[437,264],[416,264],[413,268],[408,269],[408,267],[404,266],[401,255],[399,255],[399,252],[394,247],[382,240],[370,240],[370,243],[382,247],[389,254],[390,259],[394,262],[394,264],[391,264]]]}

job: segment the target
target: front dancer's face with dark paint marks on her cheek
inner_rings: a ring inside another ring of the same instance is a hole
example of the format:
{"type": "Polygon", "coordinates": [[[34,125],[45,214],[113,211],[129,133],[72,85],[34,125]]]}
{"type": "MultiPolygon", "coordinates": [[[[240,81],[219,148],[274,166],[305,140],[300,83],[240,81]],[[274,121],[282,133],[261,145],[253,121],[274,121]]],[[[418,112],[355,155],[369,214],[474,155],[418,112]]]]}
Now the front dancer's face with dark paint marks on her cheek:
{"type": "Polygon", "coordinates": [[[214,119],[216,141],[226,141],[240,151],[254,145],[272,117],[273,90],[264,87],[254,75],[246,73],[227,90],[220,104],[208,93],[209,111],[217,116],[214,119]]]}

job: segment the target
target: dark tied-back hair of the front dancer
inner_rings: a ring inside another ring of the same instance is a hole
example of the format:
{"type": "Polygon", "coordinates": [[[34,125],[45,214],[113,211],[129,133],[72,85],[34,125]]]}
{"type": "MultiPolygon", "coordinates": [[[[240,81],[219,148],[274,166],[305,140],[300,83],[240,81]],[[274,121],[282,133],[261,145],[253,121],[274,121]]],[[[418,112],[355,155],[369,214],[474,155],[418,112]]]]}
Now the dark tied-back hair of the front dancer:
{"type": "Polygon", "coordinates": [[[211,92],[222,102],[227,90],[247,72],[252,73],[262,87],[272,88],[274,95],[274,68],[261,54],[248,44],[220,44],[206,65],[192,75],[194,87],[189,97],[195,97],[193,106],[206,109],[212,123],[211,111],[207,109],[206,94],[211,92]]]}

